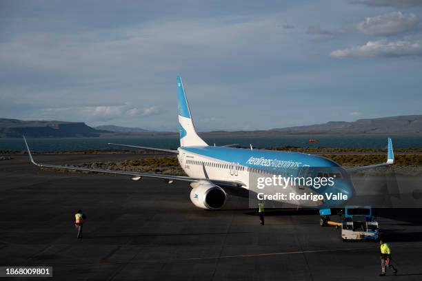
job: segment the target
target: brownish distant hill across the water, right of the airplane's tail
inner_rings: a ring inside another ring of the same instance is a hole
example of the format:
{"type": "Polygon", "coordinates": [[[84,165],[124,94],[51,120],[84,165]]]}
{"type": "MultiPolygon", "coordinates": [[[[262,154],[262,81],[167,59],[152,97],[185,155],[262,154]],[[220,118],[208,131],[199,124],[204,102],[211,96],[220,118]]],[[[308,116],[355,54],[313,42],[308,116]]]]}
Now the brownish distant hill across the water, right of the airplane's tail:
{"type": "Polygon", "coordinates": [[[422,115],[359,119],[354,122],[331,121],[270,131],[285,134],[417,134],[422,133],[422,115]]]}

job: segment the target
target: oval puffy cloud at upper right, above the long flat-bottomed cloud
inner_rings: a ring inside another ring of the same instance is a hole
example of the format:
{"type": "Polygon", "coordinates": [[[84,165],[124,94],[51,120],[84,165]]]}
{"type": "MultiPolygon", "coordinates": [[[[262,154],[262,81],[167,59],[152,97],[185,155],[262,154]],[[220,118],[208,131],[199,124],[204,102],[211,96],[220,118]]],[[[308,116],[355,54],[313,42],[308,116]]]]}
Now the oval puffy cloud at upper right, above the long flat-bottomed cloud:
{"type": "Polygon", "coordinates": [[[418,25],[419,17],[416,14],[392,12],[376,17],[367,17],[365,21],[356,25],[356,29],[367,35],[385,36],[415,30],[418,25]]]}

